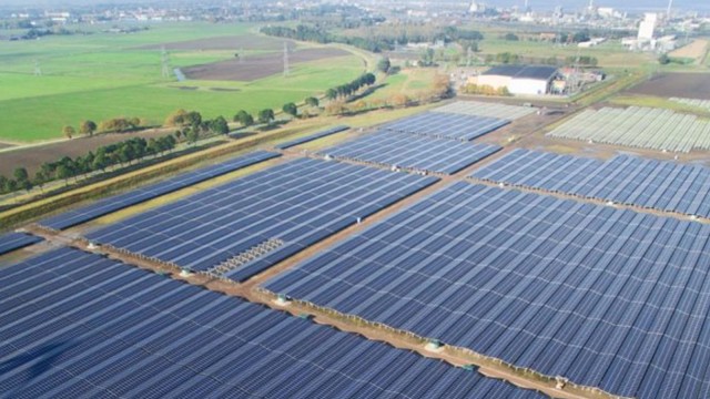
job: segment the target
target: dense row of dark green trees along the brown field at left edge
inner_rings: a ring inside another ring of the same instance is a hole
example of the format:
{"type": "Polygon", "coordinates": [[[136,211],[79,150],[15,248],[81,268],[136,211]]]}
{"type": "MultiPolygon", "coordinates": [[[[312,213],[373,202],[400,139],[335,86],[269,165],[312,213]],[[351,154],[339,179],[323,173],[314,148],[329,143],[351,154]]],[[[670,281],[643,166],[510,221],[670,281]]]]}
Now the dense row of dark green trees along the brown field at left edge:
{"type": "Polygon", "coordinates": [[[20,190],[30,191],[32,187],[40,187],[45,183],[63,180],[69,183],[70,178],[77,178],[92,172],[105,172],[113,165],[126,165],[134,161],[140,161],[145,156],[162,155],[175,147],[180,135],[165,135],[158,139],[132,137],[126,141],[100,146],[97,152],[89,152],[87,155],[71,158],[64,156],[55,162],[47,162],[40,166],[33,177],[30,177],[27,168],[17,167],[12,177],[0,175],[0,192],[3,194],[20,190]]]}

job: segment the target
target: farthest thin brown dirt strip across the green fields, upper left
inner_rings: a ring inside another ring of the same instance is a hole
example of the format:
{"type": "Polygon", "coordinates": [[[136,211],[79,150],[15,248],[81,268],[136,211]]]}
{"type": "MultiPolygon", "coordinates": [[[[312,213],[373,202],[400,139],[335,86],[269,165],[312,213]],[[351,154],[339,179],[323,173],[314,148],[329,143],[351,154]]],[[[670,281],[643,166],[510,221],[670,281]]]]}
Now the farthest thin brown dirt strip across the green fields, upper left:
{"type": "Polygon", "coordinates": [[[199,40],[187,40],[182,42],[173,42],[165,44],[151,44],[143,45],[140,50],[160,50],[165,47],[165,50],[262,50],[262,51],[282,51],[284,42],[288,43],[288,48],[295,48],[295,43],[287,39],[274,39],[264,35],[233,35],[222,38],[210,38],[199,40]]]}

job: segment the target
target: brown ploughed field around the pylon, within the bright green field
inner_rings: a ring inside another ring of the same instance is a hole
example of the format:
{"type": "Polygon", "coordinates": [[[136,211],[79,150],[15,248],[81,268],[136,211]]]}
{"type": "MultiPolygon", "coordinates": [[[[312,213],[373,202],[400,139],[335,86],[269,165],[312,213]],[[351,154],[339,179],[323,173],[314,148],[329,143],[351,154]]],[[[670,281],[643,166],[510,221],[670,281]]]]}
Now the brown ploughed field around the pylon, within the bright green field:
{"type": "MultiPolygon", "coordinates": [[[[334,57],[349,55],[348,52],[338,49],[305,49],[297,50],[288,55],[288,62],[317,61],[334,57]]],[[[244,61],[237,59],[214,62],[204,65],[184,68],[182,72],[194,80],[241,81],[252,82],[281,73],[284,68],[282,52],[250,57],[244,61]]]]}

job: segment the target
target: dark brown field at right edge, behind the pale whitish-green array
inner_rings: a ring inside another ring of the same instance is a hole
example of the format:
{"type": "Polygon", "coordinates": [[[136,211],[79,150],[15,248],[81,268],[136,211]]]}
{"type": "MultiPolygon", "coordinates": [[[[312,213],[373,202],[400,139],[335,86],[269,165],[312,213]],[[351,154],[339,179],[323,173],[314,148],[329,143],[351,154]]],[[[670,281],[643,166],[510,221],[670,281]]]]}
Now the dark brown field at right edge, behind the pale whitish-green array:
{"type": "Polygon", "coordinates": [[[663,73],[627,90],[626,93],[710,100],[710,74],[663,73]]]}

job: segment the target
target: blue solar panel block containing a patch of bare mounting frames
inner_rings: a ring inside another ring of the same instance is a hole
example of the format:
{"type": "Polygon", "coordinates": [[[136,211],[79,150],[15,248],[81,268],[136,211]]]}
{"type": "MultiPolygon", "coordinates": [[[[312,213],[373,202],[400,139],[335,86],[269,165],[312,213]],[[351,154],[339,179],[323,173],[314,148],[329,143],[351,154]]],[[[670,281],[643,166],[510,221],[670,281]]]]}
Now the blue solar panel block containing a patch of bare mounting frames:
{"type": "Polygon", "coordinates": [[[437,181],[301,158],[148,211],[88,238],[241,282],[437,181]]]}

